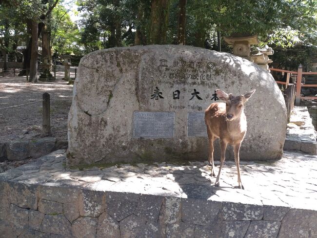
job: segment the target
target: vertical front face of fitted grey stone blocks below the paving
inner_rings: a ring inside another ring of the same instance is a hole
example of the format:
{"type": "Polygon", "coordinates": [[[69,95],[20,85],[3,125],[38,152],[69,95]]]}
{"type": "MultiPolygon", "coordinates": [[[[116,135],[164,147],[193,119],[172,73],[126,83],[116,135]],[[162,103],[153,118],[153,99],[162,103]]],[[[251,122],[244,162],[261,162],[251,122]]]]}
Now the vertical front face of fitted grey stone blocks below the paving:
{"type": "Polygon", "coordinates": [[[0,182],[5,238],[308,238],[317,211],[0,182]]]}

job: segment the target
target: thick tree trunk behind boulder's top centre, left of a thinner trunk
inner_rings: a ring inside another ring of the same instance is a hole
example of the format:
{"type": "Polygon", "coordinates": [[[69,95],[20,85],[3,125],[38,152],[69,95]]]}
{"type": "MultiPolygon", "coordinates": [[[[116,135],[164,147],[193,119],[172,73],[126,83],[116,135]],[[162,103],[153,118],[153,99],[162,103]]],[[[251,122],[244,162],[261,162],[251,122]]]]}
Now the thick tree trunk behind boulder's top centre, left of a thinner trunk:
{"type": "Polygon", "coordinates": [[[149,44],[166,44],[170,0],[152,0],[149,44]]]}

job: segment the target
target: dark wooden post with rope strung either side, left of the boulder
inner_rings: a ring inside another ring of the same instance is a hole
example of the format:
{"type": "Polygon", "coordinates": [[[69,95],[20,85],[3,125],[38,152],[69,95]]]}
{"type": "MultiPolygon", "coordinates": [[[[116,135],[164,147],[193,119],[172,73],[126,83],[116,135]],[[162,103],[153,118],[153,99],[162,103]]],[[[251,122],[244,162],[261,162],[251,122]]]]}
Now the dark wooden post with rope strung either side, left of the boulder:
{"type": "MultiPolygon", "coordinates": [[[[54,101],[72,101],[73,99],[52,99],[54,101]]],[[[30,102],[30,103],[24,103],[20,105],[15,105],[15,106],[10,106],[10,107],[5,107],[5,108],[0,108],[0,110],[8,109],[8,108],[17,108],[17,107],[22,107],[25,105],[29,104],[35,104],[35,103],[40,103],[42,102],[42,107],[43,107],[43,117],[42,117],[42,130],[43,134],[50,134],[51,133],[51,114],[50,114],[50,94],[47,92],[42,94],[42,100],[35,101],[35,102],[30,102]]]]}

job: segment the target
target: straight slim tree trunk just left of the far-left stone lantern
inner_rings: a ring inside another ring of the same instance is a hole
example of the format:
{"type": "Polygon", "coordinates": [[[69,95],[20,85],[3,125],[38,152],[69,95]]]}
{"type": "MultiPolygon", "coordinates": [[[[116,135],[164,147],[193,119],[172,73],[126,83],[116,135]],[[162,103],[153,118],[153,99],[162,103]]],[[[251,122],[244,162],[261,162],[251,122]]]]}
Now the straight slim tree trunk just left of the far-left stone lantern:
{"type": "Polygon", "coordinates": [[[32,47],[31,47],[31,62],[30,62],[30,82],[37,82],[38,73],[38,49],[39,49],[39,23],[32,20],[32,47]]]}

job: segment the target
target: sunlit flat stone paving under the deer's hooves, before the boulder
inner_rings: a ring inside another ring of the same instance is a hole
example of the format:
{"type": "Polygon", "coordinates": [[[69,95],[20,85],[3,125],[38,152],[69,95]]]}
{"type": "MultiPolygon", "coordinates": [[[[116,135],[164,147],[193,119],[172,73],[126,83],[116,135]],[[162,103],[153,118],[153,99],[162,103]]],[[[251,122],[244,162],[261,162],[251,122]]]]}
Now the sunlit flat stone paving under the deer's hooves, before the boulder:
{"type": "MultiPolygon", "coordinates": [[[[207,161],[188,165],[122,164],[82,171],[66,170],[65,162],[65,152],[55,151],[1,173],[0,180],[317,210],[317,156],[302,152],[284,151],[282,159],[275,162],[241,161],[245,190],[235,188],[238,182],[233,161],[225,162],[219,188],[213,186],[216,178],[210,176],[207,161]]],[[[218,164],[216,161],[216,174],[218,164]]]]}

